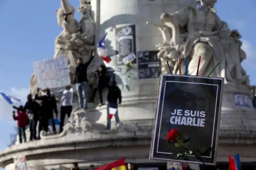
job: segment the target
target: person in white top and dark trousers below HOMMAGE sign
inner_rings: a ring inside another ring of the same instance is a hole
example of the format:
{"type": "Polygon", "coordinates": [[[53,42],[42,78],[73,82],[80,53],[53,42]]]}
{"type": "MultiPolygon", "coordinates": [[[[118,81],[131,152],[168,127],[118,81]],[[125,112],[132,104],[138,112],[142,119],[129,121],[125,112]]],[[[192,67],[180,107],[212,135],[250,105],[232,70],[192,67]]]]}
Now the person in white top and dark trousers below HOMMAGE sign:
{"type": "Polygon", "coordinates": [[[66,114],[68,115],[68,118],[69,118],[70,114],[72,112],[74,90],[70,85],[68,85],[68,86],[65,86],[65,88],[62,89],[61,92],[62,92],[62,96],[60,99],[60,104],[61,104],[61,106],[60,106],[60,133],[63,130],[63,125],[64,125],[66,114]]]}

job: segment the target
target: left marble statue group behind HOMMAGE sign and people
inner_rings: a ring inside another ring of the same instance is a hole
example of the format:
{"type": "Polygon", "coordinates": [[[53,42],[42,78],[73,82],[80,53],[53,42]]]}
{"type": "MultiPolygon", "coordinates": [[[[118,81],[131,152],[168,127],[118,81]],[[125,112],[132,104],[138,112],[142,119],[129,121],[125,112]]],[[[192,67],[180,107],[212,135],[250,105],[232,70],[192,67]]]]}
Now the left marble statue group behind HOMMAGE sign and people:
{"type": "MultiPolygon", "coordinates": [[[[68,0],[60,0],[60,8],[56,11],[58,25],[62,27],[62,32],[55,39],[55,54],[53,58],[68,57],[68,68],[70,70],[70,78],[75,78],[75,68],[77,59],[82,57],[86,62],[92,50],[94,50],[95,22],[92,17],[92,7],[90,0],[80,0],[78,11],[81,13],[80,22],[74,18],[75,8],[68,3],[68,0]]],[[[102,63],[99,57],[94,57],[92,63],[88,67],[87,76],[91,80],[91,76],[96,68],[102,63]]],[[[33,73],[30,78],[30,92],[36,93],[36,77],[33,73]]]]}

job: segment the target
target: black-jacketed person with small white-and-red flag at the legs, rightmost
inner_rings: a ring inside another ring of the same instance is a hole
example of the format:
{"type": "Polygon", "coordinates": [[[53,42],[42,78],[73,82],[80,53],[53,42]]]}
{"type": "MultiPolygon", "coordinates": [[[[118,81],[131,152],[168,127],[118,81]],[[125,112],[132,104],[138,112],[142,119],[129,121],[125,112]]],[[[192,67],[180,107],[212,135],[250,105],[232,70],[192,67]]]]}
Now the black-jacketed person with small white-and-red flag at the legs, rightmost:
{"type": "Polygon", "coordinates": [[[117,107],[117,99],[118,99],[118,104],[120,105],[122,102],[122,94],[121,90],[119,87],[116,85],[116,81],[112,81],[111,85],[108,85],[108,105],[107,105],[107,128],[110,129],[110,119],[111,115],[115,115],[116,123],[120,122],[119,117],[118,117],[118,107],[117,107]],[[112,110],[115,113],[112,113],[112,110]]]}

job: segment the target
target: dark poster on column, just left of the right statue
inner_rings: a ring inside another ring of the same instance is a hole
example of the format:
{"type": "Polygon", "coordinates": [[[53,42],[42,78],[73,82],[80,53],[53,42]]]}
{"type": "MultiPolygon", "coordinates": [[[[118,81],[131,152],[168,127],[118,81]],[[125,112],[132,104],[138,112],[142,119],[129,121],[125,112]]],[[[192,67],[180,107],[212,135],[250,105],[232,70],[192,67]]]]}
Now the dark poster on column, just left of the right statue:
{"type": "Polygon", "coordinates": [[[139,51],[138,56],[138,78],[159,78],[161,73],[160,60],[157,59],[159,51],[139,51]]]}

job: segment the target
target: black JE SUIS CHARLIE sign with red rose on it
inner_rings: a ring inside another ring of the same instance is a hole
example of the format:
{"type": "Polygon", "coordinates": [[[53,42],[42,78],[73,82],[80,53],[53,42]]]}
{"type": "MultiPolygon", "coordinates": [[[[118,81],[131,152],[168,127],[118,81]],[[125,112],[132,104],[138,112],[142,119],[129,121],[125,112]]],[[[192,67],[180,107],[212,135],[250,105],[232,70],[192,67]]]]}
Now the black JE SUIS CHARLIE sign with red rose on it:
{"type": "Polygon", "coordinates": [[[160,75],[149,159],[216,164],[223,82],[160,75]]]}

